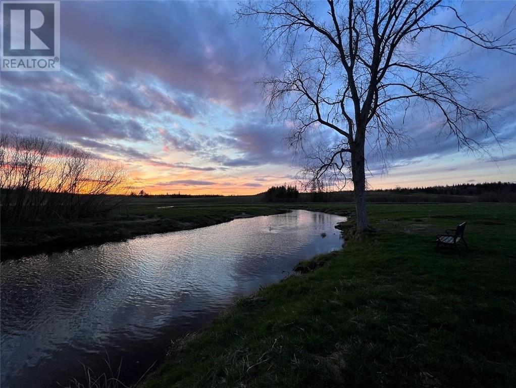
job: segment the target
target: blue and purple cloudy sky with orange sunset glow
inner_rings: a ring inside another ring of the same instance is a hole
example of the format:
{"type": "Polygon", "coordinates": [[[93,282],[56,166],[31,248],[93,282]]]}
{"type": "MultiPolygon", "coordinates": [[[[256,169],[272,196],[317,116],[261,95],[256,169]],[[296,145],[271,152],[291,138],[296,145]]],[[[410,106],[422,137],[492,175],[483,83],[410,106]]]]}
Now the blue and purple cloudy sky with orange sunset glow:
{"type": "MultiPolygon", "coordinates": [[[[325,3],[319,3],[324,6],[325,3]]],[[[480,28],[516,25],[514,2],[456,3],[480,28]]],[[[296,183],[284,137],[288,122],[266,114],[256,81],[280,74],[252,20],[234,23],[235,2],[61,1],[61,70],[2,72],[2,131],[63,139],[122,161],[128,190],[152,194],[255,194],[296,183]]],[[[440,18],[440,15],[436,15],[440,18]]],[[[442,16],[445,18],[445,16],[442,16]]],[[[431,36],[428,55],[464,52],[462,69],[482,82],[471,96],[495,108],[490,156],[439,138],[437,123],[409,112],[410,147],[386,166],[369,163],[373,189],[516,181],[516,60],[431,36]]]]}

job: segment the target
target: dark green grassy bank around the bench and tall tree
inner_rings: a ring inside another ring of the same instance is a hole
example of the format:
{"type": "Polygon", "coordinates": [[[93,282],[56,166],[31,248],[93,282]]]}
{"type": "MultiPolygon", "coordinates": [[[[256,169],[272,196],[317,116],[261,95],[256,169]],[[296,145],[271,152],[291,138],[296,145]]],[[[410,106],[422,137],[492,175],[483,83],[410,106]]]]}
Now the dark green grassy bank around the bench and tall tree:
{"type": "Polygon", "coordinates": [[[516,386],[516,206],[369,209],[375,234],[239,300],[143,386],[516,386]],[[469,252],[434,251],[461,221],[469,252]]]}

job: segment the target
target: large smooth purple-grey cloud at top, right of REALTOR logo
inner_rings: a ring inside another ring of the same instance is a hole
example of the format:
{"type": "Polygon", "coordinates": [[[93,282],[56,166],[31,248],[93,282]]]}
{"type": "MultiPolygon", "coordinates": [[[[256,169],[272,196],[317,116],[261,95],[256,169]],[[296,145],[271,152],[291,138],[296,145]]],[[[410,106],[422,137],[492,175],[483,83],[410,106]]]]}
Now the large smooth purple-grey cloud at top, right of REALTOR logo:
{"type": "Polygon", "coordinates": [[[256,79],[279,68],[263,60],[259,29],[232,19],[233,6],[220,3],[66,3],[61,37],[124,78],[152,74],[173,89],[240,109],[260,99],[256,79]],[[95,20],[87,35],[84,20],[95,20]]]}

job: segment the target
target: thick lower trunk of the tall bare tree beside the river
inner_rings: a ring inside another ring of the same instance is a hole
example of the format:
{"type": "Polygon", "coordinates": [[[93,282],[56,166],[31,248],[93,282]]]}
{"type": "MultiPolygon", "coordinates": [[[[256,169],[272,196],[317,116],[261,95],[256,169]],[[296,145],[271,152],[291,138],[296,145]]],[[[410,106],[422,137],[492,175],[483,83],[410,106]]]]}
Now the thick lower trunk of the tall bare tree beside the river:
{"type": "Polygon", "coordinates": [[[364,231],[370,228],[365,204],[365,159],[364,143],[355,143],[351,152],[351,174],[353,193],[357,209],[357,228],[364,231]]]}

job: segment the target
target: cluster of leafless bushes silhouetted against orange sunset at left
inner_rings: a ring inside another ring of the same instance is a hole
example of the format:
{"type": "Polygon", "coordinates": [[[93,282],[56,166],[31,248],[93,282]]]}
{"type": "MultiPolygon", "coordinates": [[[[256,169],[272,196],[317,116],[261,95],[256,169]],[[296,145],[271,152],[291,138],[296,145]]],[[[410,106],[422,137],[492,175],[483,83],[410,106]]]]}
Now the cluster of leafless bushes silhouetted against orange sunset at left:
{"type": "Polygon", "coordinates": [[[123,165],[51,138],[0,135],[2,223],[74,219],[113,209],[123,165]]]}

